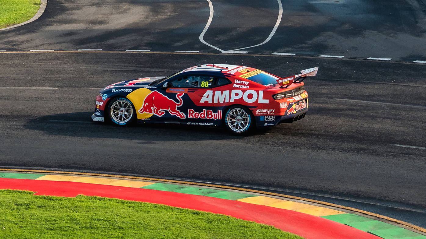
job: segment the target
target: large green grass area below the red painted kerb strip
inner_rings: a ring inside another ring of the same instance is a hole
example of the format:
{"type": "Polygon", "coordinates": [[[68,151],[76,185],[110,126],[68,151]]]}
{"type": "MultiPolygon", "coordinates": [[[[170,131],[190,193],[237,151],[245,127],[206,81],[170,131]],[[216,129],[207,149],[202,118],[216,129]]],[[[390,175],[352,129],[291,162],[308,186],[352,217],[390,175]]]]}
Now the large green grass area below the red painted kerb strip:
{"type": "Polygon", "coordinates": [[[214,213],[94,196],[32,194],[0,190],[0,238],[302,239],[214,213]]]}

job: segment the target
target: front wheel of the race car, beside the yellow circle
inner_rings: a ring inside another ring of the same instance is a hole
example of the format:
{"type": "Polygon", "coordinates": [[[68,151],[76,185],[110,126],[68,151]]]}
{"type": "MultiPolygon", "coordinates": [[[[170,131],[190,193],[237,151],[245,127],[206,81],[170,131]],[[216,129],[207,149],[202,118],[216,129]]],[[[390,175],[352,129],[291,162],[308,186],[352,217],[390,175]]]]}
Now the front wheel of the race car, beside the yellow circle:
{"type": "Polygon", "coordinates": [[[132,125],[136,119],[135,106],[126,97],[116,97],[108,104],[107,116],[113,125],[132,125]]]}

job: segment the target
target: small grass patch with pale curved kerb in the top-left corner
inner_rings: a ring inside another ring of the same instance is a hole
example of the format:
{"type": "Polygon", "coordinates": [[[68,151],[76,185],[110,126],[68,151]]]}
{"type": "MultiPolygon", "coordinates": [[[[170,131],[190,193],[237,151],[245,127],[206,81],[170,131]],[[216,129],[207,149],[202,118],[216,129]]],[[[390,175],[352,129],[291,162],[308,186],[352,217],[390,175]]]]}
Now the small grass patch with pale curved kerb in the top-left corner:
{"type": "Polygon", "coordinates": [[[0,29],[31,19],[40,4],[40,0],[0,0],[0,29]]]}

